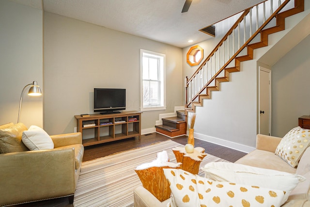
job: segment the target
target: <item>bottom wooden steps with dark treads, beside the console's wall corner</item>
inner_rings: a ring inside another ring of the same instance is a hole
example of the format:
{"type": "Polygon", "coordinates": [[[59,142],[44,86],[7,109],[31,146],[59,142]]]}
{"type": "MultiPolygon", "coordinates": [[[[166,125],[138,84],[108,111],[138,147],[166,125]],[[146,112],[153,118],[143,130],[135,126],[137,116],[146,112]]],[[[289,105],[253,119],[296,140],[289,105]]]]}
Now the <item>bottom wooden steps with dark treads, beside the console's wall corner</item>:
{"type": "Polygon", "coordinates": [[[177,116],[162,118],[162,125],[156,125],[156,132],[169,137],[177,137],[186,134],[185,110],[176,111],[177,116]]]}

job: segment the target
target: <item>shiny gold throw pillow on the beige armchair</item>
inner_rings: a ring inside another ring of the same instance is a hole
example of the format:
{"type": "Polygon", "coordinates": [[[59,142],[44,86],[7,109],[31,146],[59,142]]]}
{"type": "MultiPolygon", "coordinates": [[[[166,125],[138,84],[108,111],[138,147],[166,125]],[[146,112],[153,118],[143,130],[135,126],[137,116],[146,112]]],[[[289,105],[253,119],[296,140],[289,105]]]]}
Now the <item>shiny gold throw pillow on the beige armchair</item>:
{"type": "Polygon", "coordinates": [[[0,153],[28,151],[21,141],[22,133],[25,130],[27,127],[23,123],[0,129],[0,153]]]}

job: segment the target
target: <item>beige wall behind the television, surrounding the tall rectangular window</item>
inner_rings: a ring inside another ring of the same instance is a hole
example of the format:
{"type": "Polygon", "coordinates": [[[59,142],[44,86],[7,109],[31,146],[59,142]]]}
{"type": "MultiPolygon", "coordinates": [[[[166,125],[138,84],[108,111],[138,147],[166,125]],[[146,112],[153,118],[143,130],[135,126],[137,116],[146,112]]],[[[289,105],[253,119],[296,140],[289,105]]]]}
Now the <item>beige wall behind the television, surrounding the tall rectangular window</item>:
{"type": "Polygon", "coordinates": [[[142,113],[142,129],[182,105],[182,49],[45,13],[44,127],[73,132],[74,115],[93,112],[93,88],[126,88],[126,111],[140,110],[140,48],[166,54],[167,110],[142,113]]]}

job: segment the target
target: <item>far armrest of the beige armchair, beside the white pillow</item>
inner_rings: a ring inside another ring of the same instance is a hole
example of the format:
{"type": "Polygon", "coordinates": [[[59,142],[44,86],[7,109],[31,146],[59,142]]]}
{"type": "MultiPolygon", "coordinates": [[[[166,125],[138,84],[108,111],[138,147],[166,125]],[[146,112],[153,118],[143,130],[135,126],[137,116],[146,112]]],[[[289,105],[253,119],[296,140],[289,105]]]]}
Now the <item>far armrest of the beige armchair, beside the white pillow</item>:
{"type": "Polygon", "coordinates": [[[71,144],[82,144],[81,132],[58,134],[50,136],[54,143],[54,148],[67,146],[71,144]]]}

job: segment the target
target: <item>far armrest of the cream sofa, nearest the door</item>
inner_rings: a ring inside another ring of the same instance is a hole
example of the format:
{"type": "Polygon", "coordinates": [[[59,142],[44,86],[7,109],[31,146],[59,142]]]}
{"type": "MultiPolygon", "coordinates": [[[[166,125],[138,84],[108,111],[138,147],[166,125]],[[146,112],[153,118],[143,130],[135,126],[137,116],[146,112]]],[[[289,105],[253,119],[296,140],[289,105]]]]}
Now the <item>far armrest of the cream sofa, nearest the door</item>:
{"type": "Polygon", "coordinates": [[[275,152],[282,138],[263,134],[256,136],[256,149],[275,152]]]}

